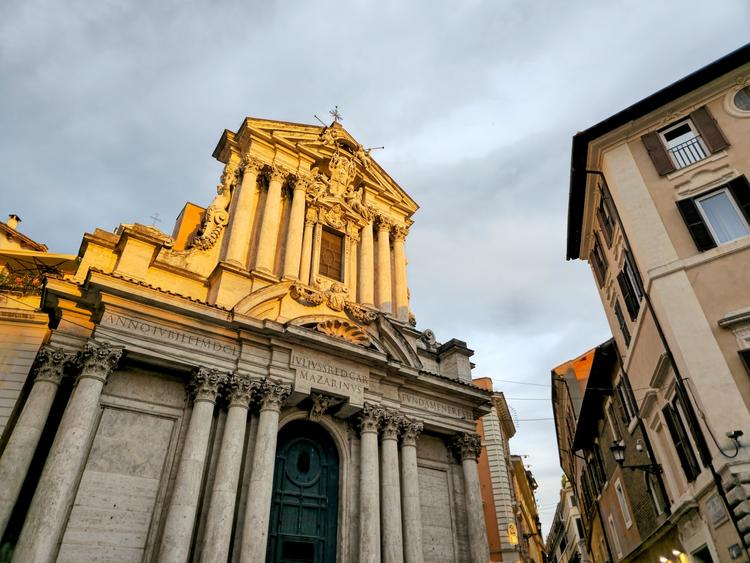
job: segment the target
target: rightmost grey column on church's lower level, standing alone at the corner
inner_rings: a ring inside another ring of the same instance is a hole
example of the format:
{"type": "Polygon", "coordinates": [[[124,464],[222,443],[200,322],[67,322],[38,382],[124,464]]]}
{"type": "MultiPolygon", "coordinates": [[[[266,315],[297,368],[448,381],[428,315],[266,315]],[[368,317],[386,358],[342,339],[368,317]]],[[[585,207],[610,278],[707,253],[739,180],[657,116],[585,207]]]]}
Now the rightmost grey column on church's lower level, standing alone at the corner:
{"type": "Polygon", "coordinates": [[[464,495],[466,496],[466,515],[469,521],[469,546],[471,546],[472,563],[486,563],[490,559],[490,547],[487,542],[487,529],[484,526],[484,509],[482,492],[479,485],[477,459],[482,451],[482,442],[476,434],[457,434],[453,447],[461,458],[464,473],[464,495]]]}

